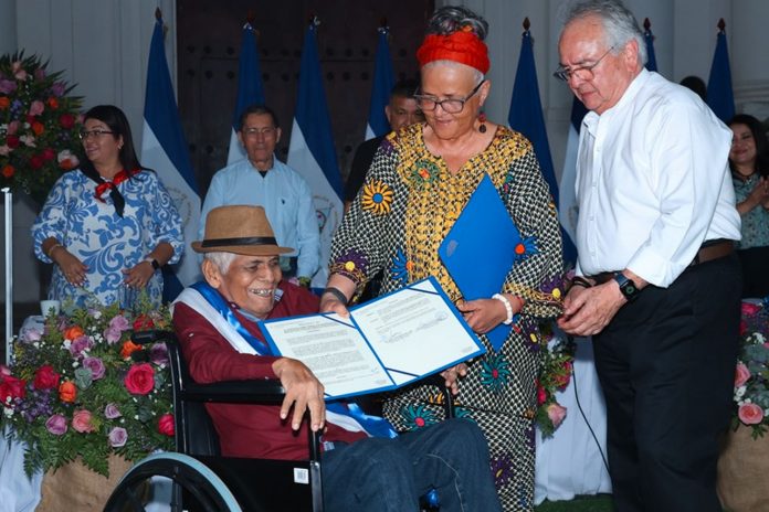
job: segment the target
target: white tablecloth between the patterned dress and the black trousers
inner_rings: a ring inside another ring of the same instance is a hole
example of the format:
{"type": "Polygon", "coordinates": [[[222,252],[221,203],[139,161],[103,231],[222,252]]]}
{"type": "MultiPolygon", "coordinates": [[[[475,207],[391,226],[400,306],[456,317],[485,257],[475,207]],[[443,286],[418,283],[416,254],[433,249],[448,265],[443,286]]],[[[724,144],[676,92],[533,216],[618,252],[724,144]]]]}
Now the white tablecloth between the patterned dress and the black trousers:
{"type": "Polygon", "coordinates": [[[567,408],[563,423],[550,438],[537,431],[535,503],[571,500],[579,494],[611,492],[600,449],[605,448],[607,413],[593,364],[592,342],[577,339],[575,375],[558,402],[567,408]],[[577,406],[577,398],[584,416],[577,406]],[[596,435],[590,434],[588,424],[596,435]]]}

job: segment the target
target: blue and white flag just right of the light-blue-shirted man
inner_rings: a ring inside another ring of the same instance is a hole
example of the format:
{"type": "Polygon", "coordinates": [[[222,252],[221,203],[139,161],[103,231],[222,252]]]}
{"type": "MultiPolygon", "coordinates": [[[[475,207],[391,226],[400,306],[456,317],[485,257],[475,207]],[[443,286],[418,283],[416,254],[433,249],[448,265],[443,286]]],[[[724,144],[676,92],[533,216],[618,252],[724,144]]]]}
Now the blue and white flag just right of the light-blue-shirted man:
{"type": "Polygon", "coordinates": [[[341,175],[337,162],[331,119],[326,105],[316,22],[305,33],[299,68],[299,94],[288,143],[291,168],[301,173],[313,191],[320,230],[320,269],[313,278],[313,288],[323,288],[328,280],[331,237],[341,221],[341,175]]]}

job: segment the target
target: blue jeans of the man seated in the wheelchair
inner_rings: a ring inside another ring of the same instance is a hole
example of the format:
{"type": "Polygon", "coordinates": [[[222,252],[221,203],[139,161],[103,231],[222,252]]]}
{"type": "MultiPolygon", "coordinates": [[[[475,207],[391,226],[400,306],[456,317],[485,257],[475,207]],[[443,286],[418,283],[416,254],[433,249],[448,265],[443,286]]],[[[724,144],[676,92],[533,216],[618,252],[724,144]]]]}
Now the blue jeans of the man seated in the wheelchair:
{"type": "Polygon", "coordinates": [[[438,491],[441,512],[501,512],[486,438],[475,423],[446,419],[396,439],[368,438],[323,455],[326,510],[417,512],[438,491]]]}

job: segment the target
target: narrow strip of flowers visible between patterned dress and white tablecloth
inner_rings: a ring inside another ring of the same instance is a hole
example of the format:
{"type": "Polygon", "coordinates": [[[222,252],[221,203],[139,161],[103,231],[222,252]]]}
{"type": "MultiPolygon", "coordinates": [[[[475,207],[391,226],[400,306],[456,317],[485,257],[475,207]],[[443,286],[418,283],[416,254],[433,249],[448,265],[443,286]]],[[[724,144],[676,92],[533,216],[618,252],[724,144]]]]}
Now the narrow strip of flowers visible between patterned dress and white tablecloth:
{"type": "Polygon", "coordinates": [[[535,420],[542,437],[552,433],[566,418],[566,407],[558,403],[556,392],[566,390],[571,380],[575,345],[566,337],[555,335],[542,326],[547,348],[542,350],[542,366],[537,380],[537,413],[535,420]]]}

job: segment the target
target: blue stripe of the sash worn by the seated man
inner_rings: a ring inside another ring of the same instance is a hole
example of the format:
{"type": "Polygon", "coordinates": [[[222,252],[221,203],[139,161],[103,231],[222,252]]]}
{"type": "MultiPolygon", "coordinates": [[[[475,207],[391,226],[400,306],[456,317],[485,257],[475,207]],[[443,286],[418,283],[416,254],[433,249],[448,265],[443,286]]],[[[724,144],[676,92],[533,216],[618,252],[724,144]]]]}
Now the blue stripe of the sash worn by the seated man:
{"type": "MultiPolygon", "coordinates": [[[[241,321],[235,317],[235,313],[230,308],[230,305],[224,300],[224,298],[211,285],[204,281],[196,282],[190,288],[198,291],[206,301],[219,313],[221,317],[233,328],[235,331],[243,337],[243,339],[256,351],[259,355],[275,355],[270,346],[256,337],[251,334],[247,329],[241,323],[241,321]]],[[[398,433],[392,425],[379,416],[370,416],[360,408],[355,402],[333,402],[326,404],[326,410],[330,413],[336,413],[340,416],[347,416],[359,424],[369,436],[371,437],[398,437],[398,433]]],[[[343,426],[344,428],[344,426],[343,426]]]]}

